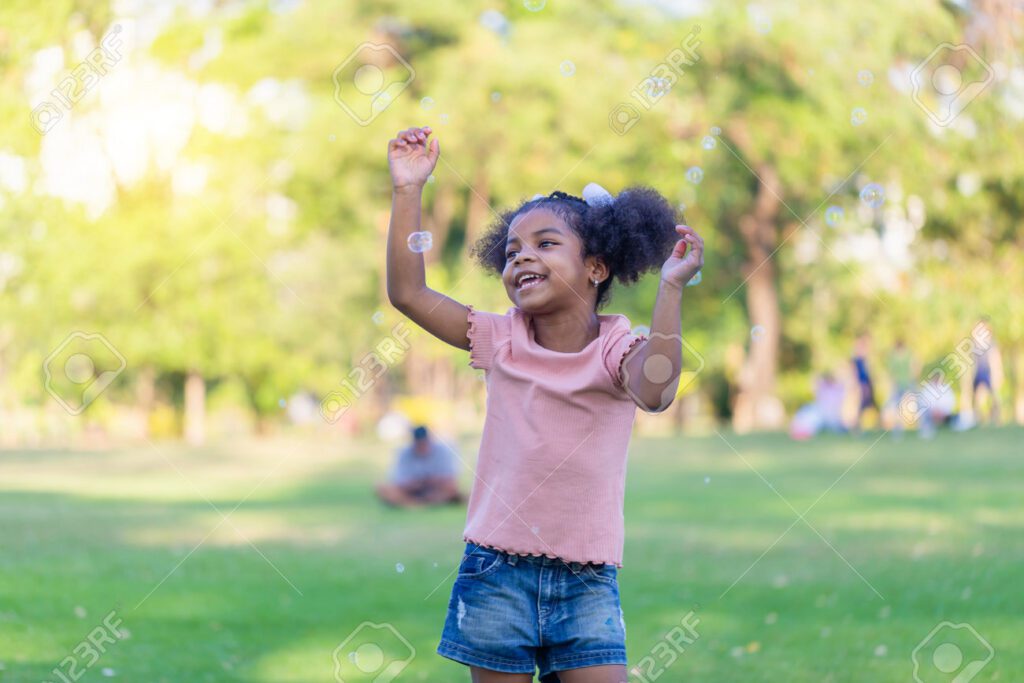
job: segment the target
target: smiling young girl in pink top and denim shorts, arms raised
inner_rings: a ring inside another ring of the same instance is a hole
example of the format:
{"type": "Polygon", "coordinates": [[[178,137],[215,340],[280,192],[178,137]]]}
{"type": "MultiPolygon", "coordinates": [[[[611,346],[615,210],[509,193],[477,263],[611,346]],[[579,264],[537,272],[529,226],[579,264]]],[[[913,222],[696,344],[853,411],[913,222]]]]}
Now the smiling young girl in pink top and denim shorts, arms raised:
{"type": "Polygon", "coordinates": [[[535,197],[473,249],[513,305],[475,310],[428,288],[409,246],[440,154],[430,134],[410,128],[388,143],[388,298],[468,350],[487,384],[466,549],[437,652],[468,665],[474,683],[528,683],[538,669],[549,683],[625,683],[616,572],[627,447],[637,405],[660,412],[675,396],[680,300],[703,242],[649,188],[535,197]],[[658,266],[649,336],[597,313],[612,279],[634,283],[658,266]]]}

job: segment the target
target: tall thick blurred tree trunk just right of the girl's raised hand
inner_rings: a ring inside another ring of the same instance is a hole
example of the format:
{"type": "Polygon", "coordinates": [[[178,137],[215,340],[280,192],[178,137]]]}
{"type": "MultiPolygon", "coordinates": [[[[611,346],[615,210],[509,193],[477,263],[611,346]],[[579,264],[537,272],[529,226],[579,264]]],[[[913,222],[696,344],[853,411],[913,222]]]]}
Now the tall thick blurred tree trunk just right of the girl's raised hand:
{"type": "Polygon", "coordinates": [[[754,208],[739,219],[739,230],[746,246],[743,275],[751,338],[732,416],[737,432],[778,429],[785,419],[782,402],[775,395],[782,326],[772,261],[778,242],[776,221],[781,206],[781,185],[774,167],[761,165],[757,173],[761,182],[754,208]]]}

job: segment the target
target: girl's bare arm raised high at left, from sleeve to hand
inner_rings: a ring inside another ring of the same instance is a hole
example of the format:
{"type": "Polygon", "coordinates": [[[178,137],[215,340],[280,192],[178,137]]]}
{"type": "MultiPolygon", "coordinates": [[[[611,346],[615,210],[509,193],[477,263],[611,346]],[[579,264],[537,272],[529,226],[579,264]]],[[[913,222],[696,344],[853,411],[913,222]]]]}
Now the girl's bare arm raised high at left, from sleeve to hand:
{"type": "Polygon", "coordinates": [[[469,308],[427,287],[423,254],[409,247],[420,230],[423,185],[434,170],[440,146],[429,127],[399,131],[388,141],[393,186],[387,231],[387,296],[391,305],[438,339],[469,350],[469,308]]]}

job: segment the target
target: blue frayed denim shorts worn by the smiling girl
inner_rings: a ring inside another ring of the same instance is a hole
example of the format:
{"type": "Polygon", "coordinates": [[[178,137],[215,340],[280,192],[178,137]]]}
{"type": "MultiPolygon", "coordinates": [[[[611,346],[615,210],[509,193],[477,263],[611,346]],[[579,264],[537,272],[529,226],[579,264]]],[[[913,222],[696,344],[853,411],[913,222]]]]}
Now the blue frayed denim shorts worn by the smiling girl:
{"type": "Polygon", "coordinates": [[[512,555],[467,543],[437,653],[508,674],[626,666],[614,564],[512,555]]]}

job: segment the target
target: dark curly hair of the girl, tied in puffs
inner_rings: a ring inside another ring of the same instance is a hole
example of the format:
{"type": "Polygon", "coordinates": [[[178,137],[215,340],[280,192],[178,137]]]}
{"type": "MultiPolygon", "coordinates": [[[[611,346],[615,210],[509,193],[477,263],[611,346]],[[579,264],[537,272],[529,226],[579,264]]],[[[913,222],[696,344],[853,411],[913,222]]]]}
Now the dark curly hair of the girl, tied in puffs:
{"type": "Polygon", "coordinates": [[[581,258],[597,256],[608,267],[610,274],[597,288],[598,309],[611,298],[612,280],[629,285],[659,268],[679,240],[672,205],[651,187],[630,187],[610,204],[600,206],[555,190],[502,213],[470,250],[470,256],[484,269],[501,275],[509,225],[519,214],[539,208],[558,214],[577,233],[583,243],[581,258]]]}

